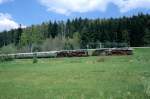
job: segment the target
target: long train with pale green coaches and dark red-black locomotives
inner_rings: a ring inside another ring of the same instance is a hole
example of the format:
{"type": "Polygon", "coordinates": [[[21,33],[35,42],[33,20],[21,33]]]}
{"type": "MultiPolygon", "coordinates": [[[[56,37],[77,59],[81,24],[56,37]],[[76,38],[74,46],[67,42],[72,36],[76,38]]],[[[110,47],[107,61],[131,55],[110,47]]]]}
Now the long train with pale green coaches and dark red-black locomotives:
{"type": "Polygon", "coordinates": [[[48,52],[32,52],[32,53],[16,53],[1,54],[1,56],[9,56],[15,59],[27,58],[59,58],[59,57],[88,57],[88,56],[108,56],[108,55],[132,55],[132,48],[101,48],[101,49],[78,49],[78,50],[61,50],[48,52]]]}

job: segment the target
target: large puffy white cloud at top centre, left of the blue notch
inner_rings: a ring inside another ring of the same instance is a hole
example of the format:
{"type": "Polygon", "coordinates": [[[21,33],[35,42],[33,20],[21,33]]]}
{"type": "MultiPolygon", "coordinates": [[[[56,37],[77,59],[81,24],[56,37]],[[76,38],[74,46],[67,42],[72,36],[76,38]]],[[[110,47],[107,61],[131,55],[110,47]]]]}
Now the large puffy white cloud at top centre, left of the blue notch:
{"type": "Polygon", "coordinates": [[[48,11],[60,14],[72,12],[87,12],[93,10],[105,11],[108,0],[40,0],[40,3],[47,7],[48,11]]]}

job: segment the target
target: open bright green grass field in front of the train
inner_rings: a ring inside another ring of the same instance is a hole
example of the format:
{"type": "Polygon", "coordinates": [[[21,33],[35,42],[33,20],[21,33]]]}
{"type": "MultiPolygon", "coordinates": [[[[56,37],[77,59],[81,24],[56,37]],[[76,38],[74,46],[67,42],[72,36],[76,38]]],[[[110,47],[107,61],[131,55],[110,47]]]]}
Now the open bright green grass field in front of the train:
{"type": "Polygon", "coordinates": [[[0,63],[0,99],[150,99],[150,49],[0,63]]]}

